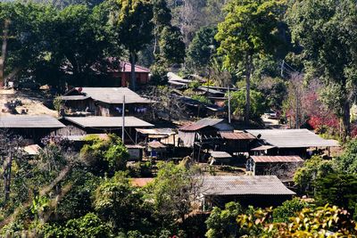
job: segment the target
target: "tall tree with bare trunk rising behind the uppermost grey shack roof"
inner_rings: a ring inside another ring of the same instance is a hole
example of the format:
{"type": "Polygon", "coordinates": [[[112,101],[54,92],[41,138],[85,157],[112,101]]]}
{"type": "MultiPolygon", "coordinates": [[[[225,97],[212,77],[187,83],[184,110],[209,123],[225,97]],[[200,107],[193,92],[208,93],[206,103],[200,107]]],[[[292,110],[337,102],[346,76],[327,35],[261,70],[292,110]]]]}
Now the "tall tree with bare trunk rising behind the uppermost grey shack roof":
{"type": "Polygon", "coordinates": [[[135,64],[137,52],[153,39],[153,4],[149,0],[120,0],[119,12],[112,12],[120,43],[129,51],[131,85],[136,90],[135,64]]]}

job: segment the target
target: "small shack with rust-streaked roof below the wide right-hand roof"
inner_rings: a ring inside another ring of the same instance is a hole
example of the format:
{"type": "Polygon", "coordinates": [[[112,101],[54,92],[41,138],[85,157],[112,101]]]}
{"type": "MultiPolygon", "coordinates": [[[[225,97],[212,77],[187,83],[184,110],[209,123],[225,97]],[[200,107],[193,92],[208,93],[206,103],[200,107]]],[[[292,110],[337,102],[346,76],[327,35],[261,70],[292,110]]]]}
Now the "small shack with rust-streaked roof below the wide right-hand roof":
{"type": "Polygon", "coordinates": [[[303,165],[300,156],[251,156],[246,162],[246,170],[254,176],[278,176],[280,180],[291,181],[297,168],[303,165]]]}

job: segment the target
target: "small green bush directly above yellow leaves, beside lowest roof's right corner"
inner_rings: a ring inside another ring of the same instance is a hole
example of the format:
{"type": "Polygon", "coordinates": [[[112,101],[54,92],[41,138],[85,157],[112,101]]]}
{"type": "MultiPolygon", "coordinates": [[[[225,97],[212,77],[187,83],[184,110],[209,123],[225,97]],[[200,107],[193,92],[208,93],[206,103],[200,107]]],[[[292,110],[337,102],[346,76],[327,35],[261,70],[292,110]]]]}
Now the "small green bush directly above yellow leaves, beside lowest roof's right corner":
{"type": "Polygon", "coordinates": [[[296,213],[300,212],[304,208],[307,208],[309,204],[298,198],[293,200],[284,201],[281,206],[273,209],[273,221],[274,222],[289,222],[290,217],[295,217],[296,213]]]}

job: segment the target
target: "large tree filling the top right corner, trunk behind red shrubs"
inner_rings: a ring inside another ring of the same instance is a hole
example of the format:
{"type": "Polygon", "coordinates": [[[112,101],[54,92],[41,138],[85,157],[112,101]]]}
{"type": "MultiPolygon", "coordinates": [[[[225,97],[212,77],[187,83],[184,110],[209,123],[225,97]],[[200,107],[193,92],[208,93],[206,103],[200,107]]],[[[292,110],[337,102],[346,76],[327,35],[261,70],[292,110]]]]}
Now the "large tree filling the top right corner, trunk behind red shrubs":
{"type": "Polygon", "coordinates": [[[306,77],[320,78],[333,97],[336,115],[342,119],[344,138],[350,135],[350,108],[355,97],[357,5],[353,0],[295,2],[287,22],[295,43],[303,46],[306,77]]]}

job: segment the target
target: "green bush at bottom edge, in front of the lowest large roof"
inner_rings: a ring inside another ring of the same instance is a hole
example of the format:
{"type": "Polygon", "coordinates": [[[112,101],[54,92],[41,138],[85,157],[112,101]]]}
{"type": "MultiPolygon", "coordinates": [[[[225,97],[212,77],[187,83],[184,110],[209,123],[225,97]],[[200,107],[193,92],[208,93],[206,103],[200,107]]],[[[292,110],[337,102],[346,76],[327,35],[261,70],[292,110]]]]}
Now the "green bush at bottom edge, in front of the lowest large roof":
{"type": "Polygon", "coordinates": [[[215,207],[210,217],[207,218],[208,238],[237,237],[240,235],[240,227],[237,224],[238,215],[242,214],[242,207],[237,202],[228,202],[225,209],[215,207]]]}

